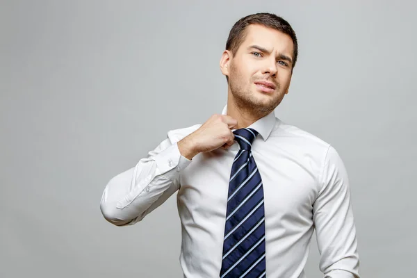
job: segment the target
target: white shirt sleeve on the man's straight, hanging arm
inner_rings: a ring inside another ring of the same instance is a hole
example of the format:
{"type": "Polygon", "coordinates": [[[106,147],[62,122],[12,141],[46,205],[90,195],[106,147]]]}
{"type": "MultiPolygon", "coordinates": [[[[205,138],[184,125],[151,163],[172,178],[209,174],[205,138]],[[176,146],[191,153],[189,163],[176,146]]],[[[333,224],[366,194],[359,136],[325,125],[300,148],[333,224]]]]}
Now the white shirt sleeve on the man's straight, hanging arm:
{"type": "Polygon", "coordinates": [[[313,204],[320,270],[325,278],[359,278],[356,228],[345,165],[329,146],[320,178],[322,188],[313,204]]]}

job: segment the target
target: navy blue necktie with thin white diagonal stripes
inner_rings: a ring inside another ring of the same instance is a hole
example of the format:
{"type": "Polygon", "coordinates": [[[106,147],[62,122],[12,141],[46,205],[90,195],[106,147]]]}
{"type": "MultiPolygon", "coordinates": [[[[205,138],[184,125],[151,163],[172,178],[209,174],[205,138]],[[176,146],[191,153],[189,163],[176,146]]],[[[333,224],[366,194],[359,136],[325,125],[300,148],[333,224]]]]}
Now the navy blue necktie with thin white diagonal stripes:
{"type": "Polygon", "coordinates": [[[251,147],[258,132],[237,129],[231,166],[220,278],[265,277],[265,212],[261,174],[251,147]]]}

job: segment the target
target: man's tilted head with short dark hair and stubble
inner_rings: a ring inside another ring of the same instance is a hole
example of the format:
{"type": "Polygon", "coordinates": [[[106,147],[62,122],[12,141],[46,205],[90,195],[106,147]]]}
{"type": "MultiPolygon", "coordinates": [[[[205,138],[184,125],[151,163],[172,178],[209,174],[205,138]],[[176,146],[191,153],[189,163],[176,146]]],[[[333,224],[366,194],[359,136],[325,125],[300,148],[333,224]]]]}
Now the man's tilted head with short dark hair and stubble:
{"type": "Polygon", "coordinates": [[[270,13],[239,19],[220,60],[231,101],[256,115],[272,112],[288,93],[297,54],[297,37],[286,20],[270,13]]]}

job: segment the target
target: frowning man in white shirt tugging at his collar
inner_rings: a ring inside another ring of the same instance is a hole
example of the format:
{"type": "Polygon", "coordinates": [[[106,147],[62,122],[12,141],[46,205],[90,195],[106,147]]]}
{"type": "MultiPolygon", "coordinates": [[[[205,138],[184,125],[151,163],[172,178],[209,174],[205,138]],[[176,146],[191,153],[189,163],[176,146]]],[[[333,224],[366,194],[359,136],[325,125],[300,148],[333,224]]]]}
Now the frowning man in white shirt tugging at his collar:
{"type": "Polygon", "coordinates": [[[172,130],[101,198],[109,222],[142,220],[177,193],[184,277],[301,278],[316,229],[325,277],[359,277],[347,173],[336,150],[275,117],[297,38],[281,17],[243,17],[220,69],[222,115],[172,130]]]}

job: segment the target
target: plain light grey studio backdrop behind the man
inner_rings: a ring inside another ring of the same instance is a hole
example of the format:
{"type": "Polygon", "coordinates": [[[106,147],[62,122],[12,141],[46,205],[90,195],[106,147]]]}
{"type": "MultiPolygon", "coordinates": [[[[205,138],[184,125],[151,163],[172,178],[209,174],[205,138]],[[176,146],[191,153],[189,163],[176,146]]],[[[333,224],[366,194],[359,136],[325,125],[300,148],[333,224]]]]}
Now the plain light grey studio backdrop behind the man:
{"type": "Polygon", "coordinates": [[[42,0],[0,6],[0,277],[182,277],[175,199],[115,227],[101,193],[168,130],[221,113],[229,30],[263,11],[300,43],[277,117],[350,174],[362,277],[415,275],[414,1],[42,0]]]}

